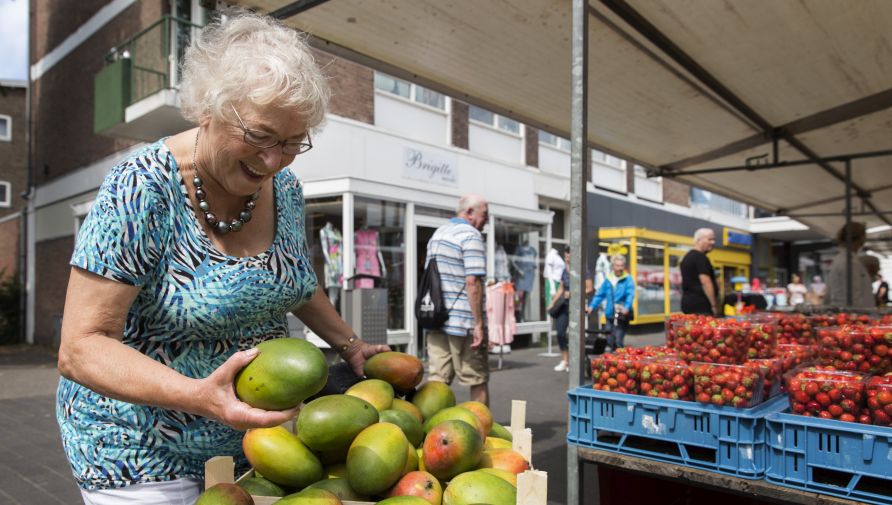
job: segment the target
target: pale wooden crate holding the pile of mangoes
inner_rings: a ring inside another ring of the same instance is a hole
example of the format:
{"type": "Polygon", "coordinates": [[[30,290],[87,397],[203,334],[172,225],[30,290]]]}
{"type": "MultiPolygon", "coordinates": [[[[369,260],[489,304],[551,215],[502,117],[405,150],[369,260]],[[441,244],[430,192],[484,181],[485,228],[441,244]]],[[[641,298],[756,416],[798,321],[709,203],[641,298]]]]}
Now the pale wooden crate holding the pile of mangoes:
{"type": "MultiPolygon", "coordinates": [[[[293,423],[286,425],[293,429],[293,423]]],[[[526,402],[511,401],[511,426],[509,427],[515,451],[533,464],[533,433],[526,427],[526,402]]],[[[239,483],[254,476],[254,470],[235,478],[235,462],[230,456],[217,456],[205,463],[205,489],[219,483],[239,483]]],[[[517,505],[546,505],[548,496],[548,476],[539,470],[527,470],[517,476],[517,505]]],[[[252,496],[255,505],[272,505],[280,498],[274,496],[252,496]]],[[[345,501],[344,505],[375,505],[375,502],[345,501]]]]}

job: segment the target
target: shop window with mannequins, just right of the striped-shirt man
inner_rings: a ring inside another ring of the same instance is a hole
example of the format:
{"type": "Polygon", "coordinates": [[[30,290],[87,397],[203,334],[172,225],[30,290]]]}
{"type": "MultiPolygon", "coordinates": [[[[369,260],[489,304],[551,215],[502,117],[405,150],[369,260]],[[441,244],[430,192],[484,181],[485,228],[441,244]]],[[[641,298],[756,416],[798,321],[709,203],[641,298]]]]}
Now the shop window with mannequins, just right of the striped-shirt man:
{"type": "MultiPolygon", "coordinates": [[[[540,242],[545,227],[508,219],[495,219],[493,271],[487,277],[511,283],[514,289],[514,318],[518,323],[545,319],[548,300],[541,286],[544,254],[540,242]]],[[[489,289],[502,289],[500,286],[489,289]]]]}

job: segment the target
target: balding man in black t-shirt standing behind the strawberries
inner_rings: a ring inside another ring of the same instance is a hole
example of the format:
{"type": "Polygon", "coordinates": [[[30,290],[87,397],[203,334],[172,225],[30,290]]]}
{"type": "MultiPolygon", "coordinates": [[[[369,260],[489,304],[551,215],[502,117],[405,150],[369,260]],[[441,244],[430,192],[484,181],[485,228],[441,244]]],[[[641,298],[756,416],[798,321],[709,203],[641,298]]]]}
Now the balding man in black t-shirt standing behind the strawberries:
{"type": "Polygon", "coordinates": [[[719,315],[715,271],[706,257],[713,247],[715,232],[700,228],[694,232],[694,248],[681,260],[681,311],[685,314],[719,315]]]}

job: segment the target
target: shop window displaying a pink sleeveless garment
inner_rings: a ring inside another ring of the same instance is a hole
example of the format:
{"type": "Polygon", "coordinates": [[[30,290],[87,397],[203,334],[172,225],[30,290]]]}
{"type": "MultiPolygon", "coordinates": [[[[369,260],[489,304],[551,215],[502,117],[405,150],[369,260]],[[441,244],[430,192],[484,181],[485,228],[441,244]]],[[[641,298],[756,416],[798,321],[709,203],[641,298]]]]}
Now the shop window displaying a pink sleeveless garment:
{"type": "Polygon", "coordinates": [[[384,200],[356,198],[354,203],[354,274],[377,279],[357,279],[357,288],[387,290],[387,329],[406,328],[406,226],[405,205],[384,200]]]}

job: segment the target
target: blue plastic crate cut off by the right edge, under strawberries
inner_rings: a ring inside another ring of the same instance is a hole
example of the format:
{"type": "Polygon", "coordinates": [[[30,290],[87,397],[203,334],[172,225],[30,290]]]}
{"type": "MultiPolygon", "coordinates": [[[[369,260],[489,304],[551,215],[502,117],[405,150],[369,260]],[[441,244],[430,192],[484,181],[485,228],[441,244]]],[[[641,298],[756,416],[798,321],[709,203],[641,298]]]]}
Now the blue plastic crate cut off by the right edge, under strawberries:
{"type": "Polygon", "coordinates": [[[782,486],[892,503],[892,428],[778,412],[766,418],[765,480],[782,486]]]}

